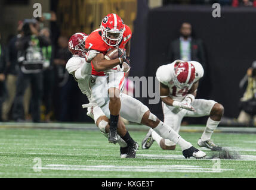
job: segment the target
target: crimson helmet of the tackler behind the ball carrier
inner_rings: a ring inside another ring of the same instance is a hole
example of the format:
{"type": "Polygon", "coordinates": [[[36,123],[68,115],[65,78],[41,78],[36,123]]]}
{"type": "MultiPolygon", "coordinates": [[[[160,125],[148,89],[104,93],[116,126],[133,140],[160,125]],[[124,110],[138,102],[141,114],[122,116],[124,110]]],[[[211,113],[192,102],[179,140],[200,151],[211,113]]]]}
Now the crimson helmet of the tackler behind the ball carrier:
{"type": "Polygon", "coordinates": [[[69,51],[73,55],[85,57],[85,39],[88,35],[85,33],[75,33],[69,39],[69,51]]]}

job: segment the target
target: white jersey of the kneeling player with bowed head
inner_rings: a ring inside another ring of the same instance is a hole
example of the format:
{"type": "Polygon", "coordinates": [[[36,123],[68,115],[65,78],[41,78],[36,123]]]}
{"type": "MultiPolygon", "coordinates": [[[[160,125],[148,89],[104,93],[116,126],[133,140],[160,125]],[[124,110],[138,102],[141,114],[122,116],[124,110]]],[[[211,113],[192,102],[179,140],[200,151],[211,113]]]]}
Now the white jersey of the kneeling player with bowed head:
{"type": "MultiPolygon", "coordinates": [[[[184,89],[176,87],[173,79],[175,77],[174,65],[176,64],[177,61],[178,60],[175,60],[171,64],[159,66],[158,70],[156,71],[156,78],[158,78],[160,83],[167,85],[169,87],[169,96],[173,100],[181,101],[184,99],[184,96],[187,95],[188,91],[190,90],[193,84],[184,89]]],[[[201,64],[199,64],[199,62],[189,62],[195,66],[196,77],[195,80],[193,81],[193,83],[195,83],[203,77],[203,67],[201,64]]]]}

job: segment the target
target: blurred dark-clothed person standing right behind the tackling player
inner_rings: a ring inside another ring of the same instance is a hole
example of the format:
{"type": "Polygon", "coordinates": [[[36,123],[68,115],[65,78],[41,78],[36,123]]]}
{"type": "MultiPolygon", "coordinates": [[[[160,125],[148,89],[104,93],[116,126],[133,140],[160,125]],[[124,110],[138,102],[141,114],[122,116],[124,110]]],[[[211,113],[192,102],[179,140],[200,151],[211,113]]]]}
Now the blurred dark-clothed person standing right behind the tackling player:
{"type": "Polygon", "coordinates": [[[54,112],[57,115],[57,120],[61,122],[75,121],[78,117],[78,107],[81,107],[79,105],[81,91],[77,87],[74,78],[66,70],[67,61],[72,56],[67,46],[68,42],[67,37],[58,37],[58,48],[53,59],[56,77],[54,112]]]}

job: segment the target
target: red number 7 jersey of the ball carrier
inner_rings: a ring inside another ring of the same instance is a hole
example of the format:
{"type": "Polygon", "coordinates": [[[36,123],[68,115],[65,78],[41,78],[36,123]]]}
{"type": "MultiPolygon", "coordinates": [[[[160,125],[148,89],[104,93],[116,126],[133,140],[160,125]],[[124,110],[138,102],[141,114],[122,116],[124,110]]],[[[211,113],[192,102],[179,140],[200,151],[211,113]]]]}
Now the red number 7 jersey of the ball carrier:
{"type": "MultiPolygon", "coordinates": [[[[92,31],[92,33],[85,40],[85,49],[88,49],[88,50],[89,49],[94,49],[94,50],[97,50],[98,52],[101,52],[103,54],[105,54],[109,48],[119,47],[119,48],[124,49],[125,45],[131,39],[131,35],[132,35],[131,34],[131,29],[127,25],[125,25],[125,31],[124,31],[122,40],[119,43],[119,45],[109,46],[101,38],[101,33],[102,33],[101,29],[97,29],[97,30],[92,31]]],[[[104,72],[95,71],[94,66],[92,64],[91,64],[91,66],[92,66],[92,70],[91,70],[92,75],[97,75],[97,76],[104,76],[105,75],[104,72]]]]}

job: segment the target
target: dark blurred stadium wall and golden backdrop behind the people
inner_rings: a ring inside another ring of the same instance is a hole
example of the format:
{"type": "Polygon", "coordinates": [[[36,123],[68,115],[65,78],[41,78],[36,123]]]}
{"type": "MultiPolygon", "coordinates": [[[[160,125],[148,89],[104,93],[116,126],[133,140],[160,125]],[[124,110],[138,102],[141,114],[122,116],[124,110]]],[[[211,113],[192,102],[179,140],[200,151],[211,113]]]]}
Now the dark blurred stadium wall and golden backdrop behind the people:
{"type": "MultiPolygon", "coordinates": [[[[205,77],[199,87],[199,96],[214,99],[224,105],[223,125],[233,123],[238,118],[239,99],[244,90],[239,88],[239,81],[255,60],[255,1],[251,6],[242,5],[243,1],[1,1],[2,18],[0,32],[2,45],[8,46],[11,37],[17,34],[17,23],[25,18],[32,18],[33,4],[41,3],[42,12],[55,12],[56,21],[44,20],[44,27],[51,30],[53,49],[58,48],[58,37],[69,38],[77,31],[90,34],[99,27],[101,19],[109,12],[116,12],[125,24],[131,27],[131,72],[129,76],[155,76],[159,65],[166,59],[169,44],[179,36],[181,23],[192,24],[193,37],[203,41],[206,61],[205,77]],[[221,4],[221,17],[212,17],[212,4],[221,4]],[[227,118],[227,119],[225,119],[227,118]],[[231,118],[231,119],[229,119],[231,118]]],[[[54,51],[54,50],[53,50],[54,51]]],[[[54,66],[54,64],[53,64],[54,66]]],[[[75,83],[73,83],[76,85],[75,83]]],[[[138,88],[138,87],[137,87],[138,88]]],[[[73,102],[69,112],[65,113],[65,122],[92,122],[81,108],[87,99],[73,87],[73,102]]],[[[56,92],[56,88],[55,91],[56,92]]],[[[53,93],[53,107],[50,121],[60,121],[57,113],[60,105],[56,103],[57,94],[53,93]]],[[[161,103],[149,105],[149,97],[138,98],[149,106],[153,113],[162,119],[161,103]]],[[[42,113],[44,113],[44,103],[42,113]]],[[[44,115],[42,115],[44,121],[44,115]]],[[[11,112],[8,121],[12,120],[11,112]]],[[[204,124],[205,119],[190,119],[189,124],[204,124]]],[[[243,125],[243,124],[242,124],[243,125]]]]}

